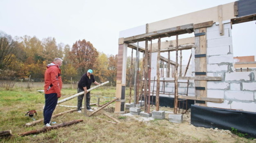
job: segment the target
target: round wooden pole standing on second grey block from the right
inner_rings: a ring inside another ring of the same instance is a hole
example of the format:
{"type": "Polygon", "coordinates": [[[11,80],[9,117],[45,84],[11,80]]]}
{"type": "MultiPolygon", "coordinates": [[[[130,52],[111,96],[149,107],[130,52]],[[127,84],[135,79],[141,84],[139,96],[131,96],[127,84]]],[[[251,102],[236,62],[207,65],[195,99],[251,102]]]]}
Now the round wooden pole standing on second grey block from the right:
{"type": "Polygon", "coordinates": [[[161,47],[161,37],[158,38],[158,50],[157,50],[157,60],[156,60],[156,111],[159,111],[159,91],[160,91],[160,47],[161,47]]]}

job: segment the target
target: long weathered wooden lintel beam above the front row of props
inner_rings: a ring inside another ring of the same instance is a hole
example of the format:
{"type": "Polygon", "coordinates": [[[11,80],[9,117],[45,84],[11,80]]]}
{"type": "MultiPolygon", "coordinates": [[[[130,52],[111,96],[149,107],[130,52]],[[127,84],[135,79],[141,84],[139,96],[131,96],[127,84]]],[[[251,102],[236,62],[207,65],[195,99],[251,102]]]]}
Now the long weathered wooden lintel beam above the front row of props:
{"type": "Polygon", "coordinates": [[[187,29],[190,29],[193,32],[194,31],[193,24],[186,24],[186,25],[182,25],[182,26],[177,26],[177,27],[172,27],[172,28],[163,29],[163,30],[159,30],[159,31],[153,31],[150,33],[127,37],[124,39],[124,42],[130,43],[130,41],[132,41],[132,40],[138,41],[138,42],[145,41],[145,37],[153,37],[154,39],[157,37],[161,37],[161,38],[168,37],[165,35],[166,33],[170,36],[176,35],[176,34],[178,34],[178,35],[185,34],[185,33],[188,33],[187,29]]]}

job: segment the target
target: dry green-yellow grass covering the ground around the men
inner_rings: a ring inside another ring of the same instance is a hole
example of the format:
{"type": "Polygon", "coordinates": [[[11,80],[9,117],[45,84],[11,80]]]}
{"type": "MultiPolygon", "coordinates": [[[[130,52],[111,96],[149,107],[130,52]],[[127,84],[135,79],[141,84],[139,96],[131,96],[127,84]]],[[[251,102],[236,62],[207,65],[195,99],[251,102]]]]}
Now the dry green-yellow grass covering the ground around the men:
{"type": "MultiPolygon", "coordinates": [[[[114,104],[109,105],[104,110],[97,112],[92,117],[86,117],[84,114],[73,112],[67,113],[52,121],[63,123],[75,119],[83,119],[84,121],[78,124],[70,125],[68,127],[50,130],[45,133],[29,136],[18,136],[20,132],[36,130],[43,128],[43,123],[38,123],[31,127],[24,127],[25,123],[31,122],[32,119],[25,117],[25,113],[29,110],[36,110],[38,116],[36,119],[43,118],[44,95],[36,92],[41,90],[43,84],[37,84],[33,88],[24,88],[25,86],[16,86],[11,91],[0,89],[0,131],[12,130],[13,136],[2,138],[0,142],[3,143],[219,143],[222,142],[237,142],[245,143],[251,142],[247,139],[239,138],[237,136],[227,135],[223,139],[215,139],[211,136],[210,129],[202,129],[210,135],[200,137],[186,133],[186,125],[190,128],[188,132],[195,132],[202,134],[199,128],[188,125],[188,122],[183,125],[170,123],[167,119],[152,120],[152,121],[138,121],[140,116],[124,116],[122,114],[114,114],[114,104]],[[115,117],[120,124],[112,124],[102,121],[95,117],[111,121],[102,114],[107,112],[112,117],[115,117]],[[185,128],[185,131],[184,131],[185,128]],[[183,129],[181,131],[181,129],[183,129]],[[225,139],[226,137],[226,139],[225,139]],[[229,138],[227,138],[229,137],[229,138]]],[[[22,84],[21,84],[22,85],[22,84]]],[[[66,98],[76,93],[75,89],[64,88],[62,90],[62,97],[66,98]]],[[[126,94],[128,94],[128,90],[126,94]]],[[[113,100],[115,96],[114,87],[102,87],[91,92],[91,103],[97,102],[100,97],[100,103],[113,100]],[[108,97],[108,98],[104,98],[108,97]]],[[[126,95],[128,99],[128,95],[126,95]]],[[[63,105],[77,104],[77,99],[72,99],[63,103],[63,105]]],[[[96,107],[95,107],[96,108],[96,107]]],[[[170,108],[163,108],[169,110],[170,108]]],[[[70,110],[70,108],[58,107],[54,114],[70,110]]],[[[154,110],[154,108],[152,109],[154,110]]],[[[170,110],[171,111],[171,110],[170,110]]]]}

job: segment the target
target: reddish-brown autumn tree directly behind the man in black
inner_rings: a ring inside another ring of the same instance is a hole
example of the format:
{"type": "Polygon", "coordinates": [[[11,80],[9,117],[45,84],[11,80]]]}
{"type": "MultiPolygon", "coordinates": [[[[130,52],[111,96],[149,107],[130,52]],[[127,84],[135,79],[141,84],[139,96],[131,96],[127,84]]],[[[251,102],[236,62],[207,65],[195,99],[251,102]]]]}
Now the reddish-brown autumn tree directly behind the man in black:
{"type": "Polygon", "coordinates": [[[91,42],[86,42],[86,40],[76,41],[72,46],[70,52],[70,58],[75,64],[79,75],[87,72],[88,69],[94,69],[97,66],[98,52],[96,48],[93,47],[91,42]]]}

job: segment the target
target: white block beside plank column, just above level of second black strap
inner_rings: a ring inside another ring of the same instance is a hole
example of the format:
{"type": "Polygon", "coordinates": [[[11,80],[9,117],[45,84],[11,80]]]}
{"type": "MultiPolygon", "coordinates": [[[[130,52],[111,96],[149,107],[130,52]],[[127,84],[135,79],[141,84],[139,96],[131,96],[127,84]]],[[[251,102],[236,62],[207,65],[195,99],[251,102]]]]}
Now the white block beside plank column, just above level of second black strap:
{"type": "Polygon", "coordinates": [[[221,47],[211,47],[207,48],[207,56],[212,55],[227,55],[230,52],[229,45],[221,47]]]}

